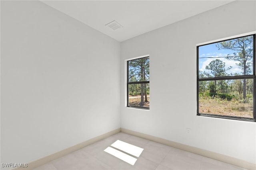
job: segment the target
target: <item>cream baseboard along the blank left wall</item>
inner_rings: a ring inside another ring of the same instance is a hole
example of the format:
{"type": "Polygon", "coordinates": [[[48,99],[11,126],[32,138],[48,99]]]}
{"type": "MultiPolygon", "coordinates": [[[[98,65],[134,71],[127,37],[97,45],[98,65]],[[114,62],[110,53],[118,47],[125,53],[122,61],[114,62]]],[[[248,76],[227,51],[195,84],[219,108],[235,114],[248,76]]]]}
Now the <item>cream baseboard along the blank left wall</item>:
{"type": "Polygon", "coordinates": [[[26,167],[26,168],[25,167],[14,168],[13,170],[32,170],[32,169],[34,169],[34,168],[36,168],[38,166],[41,166],[41,165],[46,164],[48,162],[51,162],[52,160],[58,159],[58,158],[60,158],[62,156],[65,156],[66,154],[69,154],[69,153],[74,152],[76,150],[82,149],[82,148],[84,148],[84,147],[86,147],[86,146],[88,146],[88,145],[90,145],[92,143],[95,143],[97,141],[100,141],[102,139],[110,137],[110,136],[112,136],[112,135],[114,135],[116,133],[119,133],[120,131],[121,131],[120,128],[115,129],[113,131],[110,131],[110,132],[105,133],[103,135],[100,135],[98,137],[94,137],[92,139],[89,139],[88,141],[84,141],[82,143],[79,143],[79,144],[74,145],[72,147],[69,147],[67,149],[64,149],[64,150],[61,150],[61,151],[56,152],[54,154],[50,154],[48,156],[45,156],[44,158],[40,158],[38,160],[30,162],[30,163],[28,163],[28,167],[26,167]]]}

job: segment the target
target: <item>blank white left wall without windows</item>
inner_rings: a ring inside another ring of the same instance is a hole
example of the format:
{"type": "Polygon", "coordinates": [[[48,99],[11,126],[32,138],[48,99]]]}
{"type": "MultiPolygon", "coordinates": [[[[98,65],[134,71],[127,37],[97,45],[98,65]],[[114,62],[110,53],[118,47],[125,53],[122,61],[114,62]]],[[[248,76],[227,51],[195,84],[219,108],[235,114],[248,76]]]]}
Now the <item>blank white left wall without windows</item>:
{"type": "Polygon", "coordinates": [[[1,1],[1,163],[120,128],[120,43],[39,1],[1,1]]]}

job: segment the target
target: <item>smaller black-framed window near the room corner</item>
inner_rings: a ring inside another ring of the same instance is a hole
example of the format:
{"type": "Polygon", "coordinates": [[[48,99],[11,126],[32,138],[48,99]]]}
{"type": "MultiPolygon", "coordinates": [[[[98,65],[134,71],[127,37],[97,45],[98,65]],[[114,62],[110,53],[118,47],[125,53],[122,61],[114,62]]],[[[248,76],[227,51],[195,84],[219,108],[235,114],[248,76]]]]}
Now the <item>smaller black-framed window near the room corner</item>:
{"type": "Polygon", "coordinates": [[[127,107],[149,109],[149,57],[127,61],[127,107]]]}

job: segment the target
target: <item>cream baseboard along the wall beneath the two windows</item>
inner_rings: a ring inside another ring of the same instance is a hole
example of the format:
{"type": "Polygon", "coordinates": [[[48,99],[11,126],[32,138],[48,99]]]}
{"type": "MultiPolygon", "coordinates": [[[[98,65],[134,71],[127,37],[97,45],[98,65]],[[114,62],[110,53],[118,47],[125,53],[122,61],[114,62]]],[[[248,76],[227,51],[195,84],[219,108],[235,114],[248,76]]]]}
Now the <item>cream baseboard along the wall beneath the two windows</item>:
{"type": "Polygon", "coordinates": [[[256,164],[252,164],[252,163],[246,162],[244,160],[233,158],[231,156],[226,156],[224,154],[219,154],[219,153],[216,153],[216,152],[211,152],[209,150],[204,150],[204,149],[200,149],[200,148],[196,148],[196,147],[191,147],[189,145],[184,145],[184,144],[177,143],[177,142],[174,142],[174,141],[168,141],[166,139],[162,139],[162,138],[159,138],[159,137],[154,137],[154,136],[147,135],[147,134],[144,134],[144,133],[139,133],[139,132],[136,132],[136,131],[131,131],[131,130],[128,130],[128,129],[125,129],[125,128],[121,128],[121,132],[130,134],[130,135],[134,135],[134,136],[137,136],[137,137],[141,137],[141,138],[144,138],[144,139],[148,139],[150,141],[162,143],[164,145],[168,145],[168,146],[175,147],[175,148],[178,148],[178,149],[186,150],[188,152],[192,152],[192,153],[195,153],[195,154],[206,156],[208,158],[220,160],[222,162],[226,162],[228,164],[239,166],[241,168],[245,168],[245,169],[248,169],[248,170],[256,170],[256,164]]]}

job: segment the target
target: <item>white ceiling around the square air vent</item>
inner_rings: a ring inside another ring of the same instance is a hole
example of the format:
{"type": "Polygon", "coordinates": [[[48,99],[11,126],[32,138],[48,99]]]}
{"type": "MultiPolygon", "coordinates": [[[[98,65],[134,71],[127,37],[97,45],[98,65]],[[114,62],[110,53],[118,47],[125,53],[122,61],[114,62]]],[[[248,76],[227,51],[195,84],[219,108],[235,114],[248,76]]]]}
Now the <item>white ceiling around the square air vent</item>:
{"type": "Polygon", "coordinates": [[[45,4],[116,39],[125,41],[234,0],[43,0],[45,4]],[[123,27],[105,26],[116,20],[123,27]]]}

